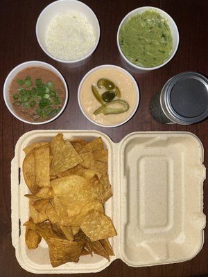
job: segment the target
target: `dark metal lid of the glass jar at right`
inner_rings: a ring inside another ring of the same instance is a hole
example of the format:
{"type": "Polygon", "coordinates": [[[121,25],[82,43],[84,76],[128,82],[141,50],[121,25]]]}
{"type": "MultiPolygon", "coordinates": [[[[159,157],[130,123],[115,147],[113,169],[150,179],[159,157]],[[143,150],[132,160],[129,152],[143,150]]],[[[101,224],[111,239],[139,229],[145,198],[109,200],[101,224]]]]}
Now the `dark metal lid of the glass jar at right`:
{"type": "Polygon", "coordinates": [[[208,79],[189,71],[175,75],[162,88],[160,105],[173,123],[204,120],[208,116],[208,79]]]}

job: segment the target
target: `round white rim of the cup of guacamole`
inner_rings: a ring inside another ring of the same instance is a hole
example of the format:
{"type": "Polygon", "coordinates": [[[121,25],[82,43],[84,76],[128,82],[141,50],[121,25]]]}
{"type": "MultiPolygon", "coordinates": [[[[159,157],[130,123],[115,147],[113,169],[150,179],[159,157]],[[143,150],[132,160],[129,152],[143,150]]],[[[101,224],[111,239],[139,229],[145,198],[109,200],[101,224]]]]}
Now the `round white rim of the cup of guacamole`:
{"type": "Polygon", "coordinates": [[[165,12],[164,10],[162,10],[160,8],[157,8],[157,7],[142,6],[142,7],[139,7],[139,8],[135,8],[134,10],[131,10],[130,12],[128,12],[128,14],[125,15],[125,17],[123,17],[123,19],[121,20],[121,22],[119,24],[119,28],[117,30],[116,42],[117,42],[117,47],[119,49],[119,53],[121,54],[121,57],[123,58],[123,60],[125,60],[125,62],[127,62],[127,64],[132,66],[134,69],[138,69],[140,71],[152,71],[152,70],[159,69],[159,68],[165,66],[166,64],[168,64],[168,62],[170,62],[173,59],[175,53],[177,52],[177,48],[179,46],[180,35],[179,35],[179,31],[178,31],[177,25],[175,24],[175,21],[173,20],[173,17],[171,17],[171,15],[169,15],[167,12],[165,12]],[[128,17],[130,17],[131,15],[134,15],[137,11],[140,11],[140,10],[144,10],[144,11],[146,11],[146,10],[156,10],[156,11],[158,11],[161,15],[163,14],[163,15],[166,16],[166,18],[168,17],[168,19],[170,19],[170,21],[172,21],[173,26],[175,28],[175,32],[176,32],[176,44],[175,44],[175,48],[173,50],[173,53],[168,57],[168,59],[163,64],[159,64],[158,66],[153,66],[153,67],[137,66],[136,64],[133,64],[132,62],[130,62],[130,60],[128,60],[127,57],[125,57],[125,55],[121,51],[121,47],[120,47],[120,44],[119,44],[119,33],[120,33],[120,30],[121,30],[121,26],[123,25],[124,21],[126,19],[128,19],[128,17]]]}

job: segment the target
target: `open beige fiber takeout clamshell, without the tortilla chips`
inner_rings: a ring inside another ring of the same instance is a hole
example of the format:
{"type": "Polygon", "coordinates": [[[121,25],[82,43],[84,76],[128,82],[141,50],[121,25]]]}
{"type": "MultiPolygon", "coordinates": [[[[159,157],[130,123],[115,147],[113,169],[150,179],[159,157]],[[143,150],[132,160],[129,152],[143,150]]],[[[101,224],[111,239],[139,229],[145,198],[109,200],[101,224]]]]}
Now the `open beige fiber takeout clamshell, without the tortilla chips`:
{"type": "Polygon", "coordinates": [[[105,258],[82,256],[52,268],[42,240],[35,250],[24,242],[24,222],[28,220],[28,188],[24,183],[23,148],[51,141],[58,133],[64,139],[99,136],[109,151],[109,175],[113,197],[105,204],[118,235],[110,240],[115,256],[131,267],[164,265],[190,260],[204,242],[203,146],[189,132],[134,132],[120,143],[102,132],[37,130],[27,132],[15,148],[11,168],[12,244],[21,267],[36,274],[97,272],[110,266],[105,258]]]}

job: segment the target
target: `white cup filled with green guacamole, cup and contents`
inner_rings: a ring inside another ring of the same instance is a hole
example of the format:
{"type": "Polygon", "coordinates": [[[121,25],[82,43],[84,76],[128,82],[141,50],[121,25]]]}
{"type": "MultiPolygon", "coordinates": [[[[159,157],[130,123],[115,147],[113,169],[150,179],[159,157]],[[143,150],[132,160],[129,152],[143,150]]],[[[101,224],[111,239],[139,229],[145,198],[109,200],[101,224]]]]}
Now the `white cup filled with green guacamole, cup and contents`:
{"type": "Polygon", "coordinates": [[[164,10],[141,7],[125,15],[116,39],[122,61],[128,69],[151,71],[173,59],[179,33],[175,21],[164,10]]]}

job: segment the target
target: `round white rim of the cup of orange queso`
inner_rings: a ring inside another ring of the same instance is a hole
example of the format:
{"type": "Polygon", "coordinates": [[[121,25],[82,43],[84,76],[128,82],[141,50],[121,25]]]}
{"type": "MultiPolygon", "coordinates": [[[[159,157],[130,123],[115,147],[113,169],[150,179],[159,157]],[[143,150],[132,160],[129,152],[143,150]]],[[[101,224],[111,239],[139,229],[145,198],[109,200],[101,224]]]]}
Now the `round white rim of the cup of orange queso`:
{"type": "Polygon", "coordinates": [[[135,80],[135,78],[130,74],[130,72],[128,72],[127,70],[123,69],[123,67],[121,66],[117,66],[115,64],[102,64],[99,66],[94,67],[93,69],[89,70],[82,78],[82,80],[80,81],[80,84],[78,86],[78,105],[80,107],[80,110],[82,111],[83,115],[85,116],[85,118],[87,118],[87,120],[91,121],[92,123],[94,123],[95,125],[98,125],[100,127],[106,127],[106,128],[112,128],[112,127],[119,127],[125,123],[127,123],[136,113],[138,107],[139,107],[139,101],[140,101],[140,91],[139,91],[139,86],[135,80]],[[87,116],[87,114],[85,113],[83,106],[81,104],[81,100],[80,100],[80,93],[81,93],[81,88],[83,86],[83,83],[85,82],[86,78],[91,75],[93,72],[98,71],[99,69],[107,69],[107,68],[112,68],[112,69],[116,69],[118,71],[123,71],[123,73],[125,73],[126,75],[128,75],[128,77],[130,78],[130,80],[132,80],[134,87],[135,87],[135,94],[136,94],[136,98],[137,101],[135,103],[135,108],[133,109],[132,113],[130,114],[130,116],[128,116],[128,118],[126,118],[125,120],[123,120],[121,123],[116,123],[114,125],[104,125],[101,123],[96,123],[96,121],[92,120],[91,118],[89,118],[89,116],[87,116]]]}

